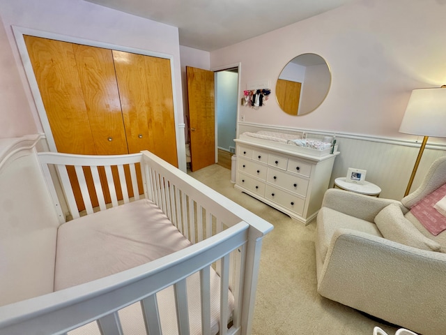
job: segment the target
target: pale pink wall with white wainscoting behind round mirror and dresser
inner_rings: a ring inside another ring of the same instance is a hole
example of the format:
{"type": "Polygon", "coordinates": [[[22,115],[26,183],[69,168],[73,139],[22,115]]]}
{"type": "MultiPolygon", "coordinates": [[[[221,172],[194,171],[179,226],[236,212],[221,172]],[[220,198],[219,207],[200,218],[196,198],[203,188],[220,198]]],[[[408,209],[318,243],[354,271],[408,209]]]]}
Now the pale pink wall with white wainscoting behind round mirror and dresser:
{"type": "MultiPolygon", "coordinates": [[[[240,62],[240,91],[248,82],[270,80],[268,104],[240,107],[245,122],[239,119],[239,129],[336,133],[341,154],[332,181],[348,168],[367,170],[367,180],[383,189],[381,196],[401,199],[422,137],[398,130],[413,89],[446,84],[445,17],[446,1],[359,0],[211,52],[210,65],[240,62]],[[277,104],[275,83],[282,68],[305,53],[328,62],[332,82],[321,106],[293,117],[277,104]]],[[[413,189],[431,162],[446,154],[445,145],[445,139],[429,138],[413,189]]]]}

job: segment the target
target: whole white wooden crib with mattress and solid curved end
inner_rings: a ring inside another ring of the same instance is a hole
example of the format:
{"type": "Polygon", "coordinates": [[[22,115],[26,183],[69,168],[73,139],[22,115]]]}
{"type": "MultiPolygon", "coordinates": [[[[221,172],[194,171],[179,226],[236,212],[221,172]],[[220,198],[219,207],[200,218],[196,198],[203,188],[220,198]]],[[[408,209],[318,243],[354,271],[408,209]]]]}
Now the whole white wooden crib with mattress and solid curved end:
{"type": "Polygon", "coordinates": [[[250,334],[270,223],[148,151],[38,153],[42,139],[0,139],[0,334],[250,334]]]}

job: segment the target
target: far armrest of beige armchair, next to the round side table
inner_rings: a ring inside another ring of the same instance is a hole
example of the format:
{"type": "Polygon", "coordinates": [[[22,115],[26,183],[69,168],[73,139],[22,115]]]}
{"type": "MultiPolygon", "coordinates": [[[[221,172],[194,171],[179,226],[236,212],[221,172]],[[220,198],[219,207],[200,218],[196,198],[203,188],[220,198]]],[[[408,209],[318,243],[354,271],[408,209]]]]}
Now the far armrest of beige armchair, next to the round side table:
{"type": "Polygon", "coordinates": [[[374,222],[375,216],[389,204],[399,204],[404,214],[408,211],[401,202],[393,199],[375,198],[369,195],[330,188],[325,192],[322,207],[328,207],[341,213],[374,222]]]}

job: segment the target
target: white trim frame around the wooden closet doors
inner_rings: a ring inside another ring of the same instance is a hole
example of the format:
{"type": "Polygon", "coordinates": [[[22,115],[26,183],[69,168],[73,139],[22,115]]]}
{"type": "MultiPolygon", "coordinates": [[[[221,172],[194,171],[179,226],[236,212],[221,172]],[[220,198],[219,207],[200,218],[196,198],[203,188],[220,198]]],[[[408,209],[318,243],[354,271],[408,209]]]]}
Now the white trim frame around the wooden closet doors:
{"type": "Polygon", "coordinates": [[[175,134],[176,134],[176,147],[178,156],[178,167],[180,170],[185,170],[185,138],[184,134],[185,124],[178,123],[178,103],[177,103],[177,93],[176,93],[176,81],[175,81],[175,68],[174,68],[174,56],[171,54],[164,54],[162,52],[154,52],[150,50],[138,49],[135,47],[124,47],[122,45],[115,45],[112,43],[103,43],[97,40],[89,40],[86,38],[78,38],[73,36],[66,36],[62,34],[51,33],[49,31],[42,31],[38,29],[31,29],[20,26],[12,26],[13,33],[15,37],[15,42],[17,43],[17,48],[20,52],[20,58],[22,59],[22,64],[25,70],[26,79],[28,80],[29,87],[31,89],[31,94],[33,96],[33,101],[36,103],[36,108],[40,120],[35,119],[36,124],[38,121],[43,126],[43,131],[45,132],[45,137],[49,147],[49,151],[56,152],[56,143],[54,142],[54,137],[49,127],[49,121],[47,117],[47,112],[43,105],[42,97],[40,96],[40,91],[38,88],[36,76],[34,75],[33,67],[31,65],[31,60],[29,59],[28,49],[24,41],[24,35],[36,36],[41,38],[49,38],[53,40],[61,40],[63,42],[77,43],[82,45],[89,45],[91,47],[102,47],[104,49],[118,50],[123,52],[131,52],[134,54],[143,54],[144,56],[159,57],[164,59],[169,59],[170,70],[171,70],[171,84],[172,84],[172,98],[174,100],[174,120],[175,120],[175,134]],[[184,156],[184,157],[183,157],[184,156]],[[184,166],[183,166],[184,165],[184,166]]]}

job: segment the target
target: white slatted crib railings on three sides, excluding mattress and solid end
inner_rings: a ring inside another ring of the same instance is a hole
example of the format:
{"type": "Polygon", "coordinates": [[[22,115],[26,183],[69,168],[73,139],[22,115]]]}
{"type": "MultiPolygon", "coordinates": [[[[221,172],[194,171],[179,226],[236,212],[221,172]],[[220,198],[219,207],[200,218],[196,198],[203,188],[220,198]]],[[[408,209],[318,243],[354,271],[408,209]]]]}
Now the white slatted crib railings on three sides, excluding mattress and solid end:
{"type": "Polygon", "coordinates": [[[75,171],[87,215],[139,199],[144,193],[193,245],[112,276],[0,307],[0,334],[35,334],[36,329],[39,334],[66,334],[94,320],[102,334],[122,334],[118,311],[135,302],[145,313],[147,332],[161,334],[155,293],[169,285],[174,285],[179,334],[189,334],[185,281],[197,271],[202,334],[210,334],[210,266],[220,274],[220,320],[232,321],[229,328],[220,322],[219,333],[250,333],[261,241],[272,230],[270,223],[148,151],[125,156],[40,153],[38,158],[61,223],[66,216],[81,215],[68,177],[69,166],[75,171]],[[86,174],[93,178],[93,190],[86,174]],[[91,193],[98,198],[97,207],[91,193]],[[110,203],[105,200],[107,194],[110,203]],[[229,290],[235,299],[231,315],[229,290]]]}

